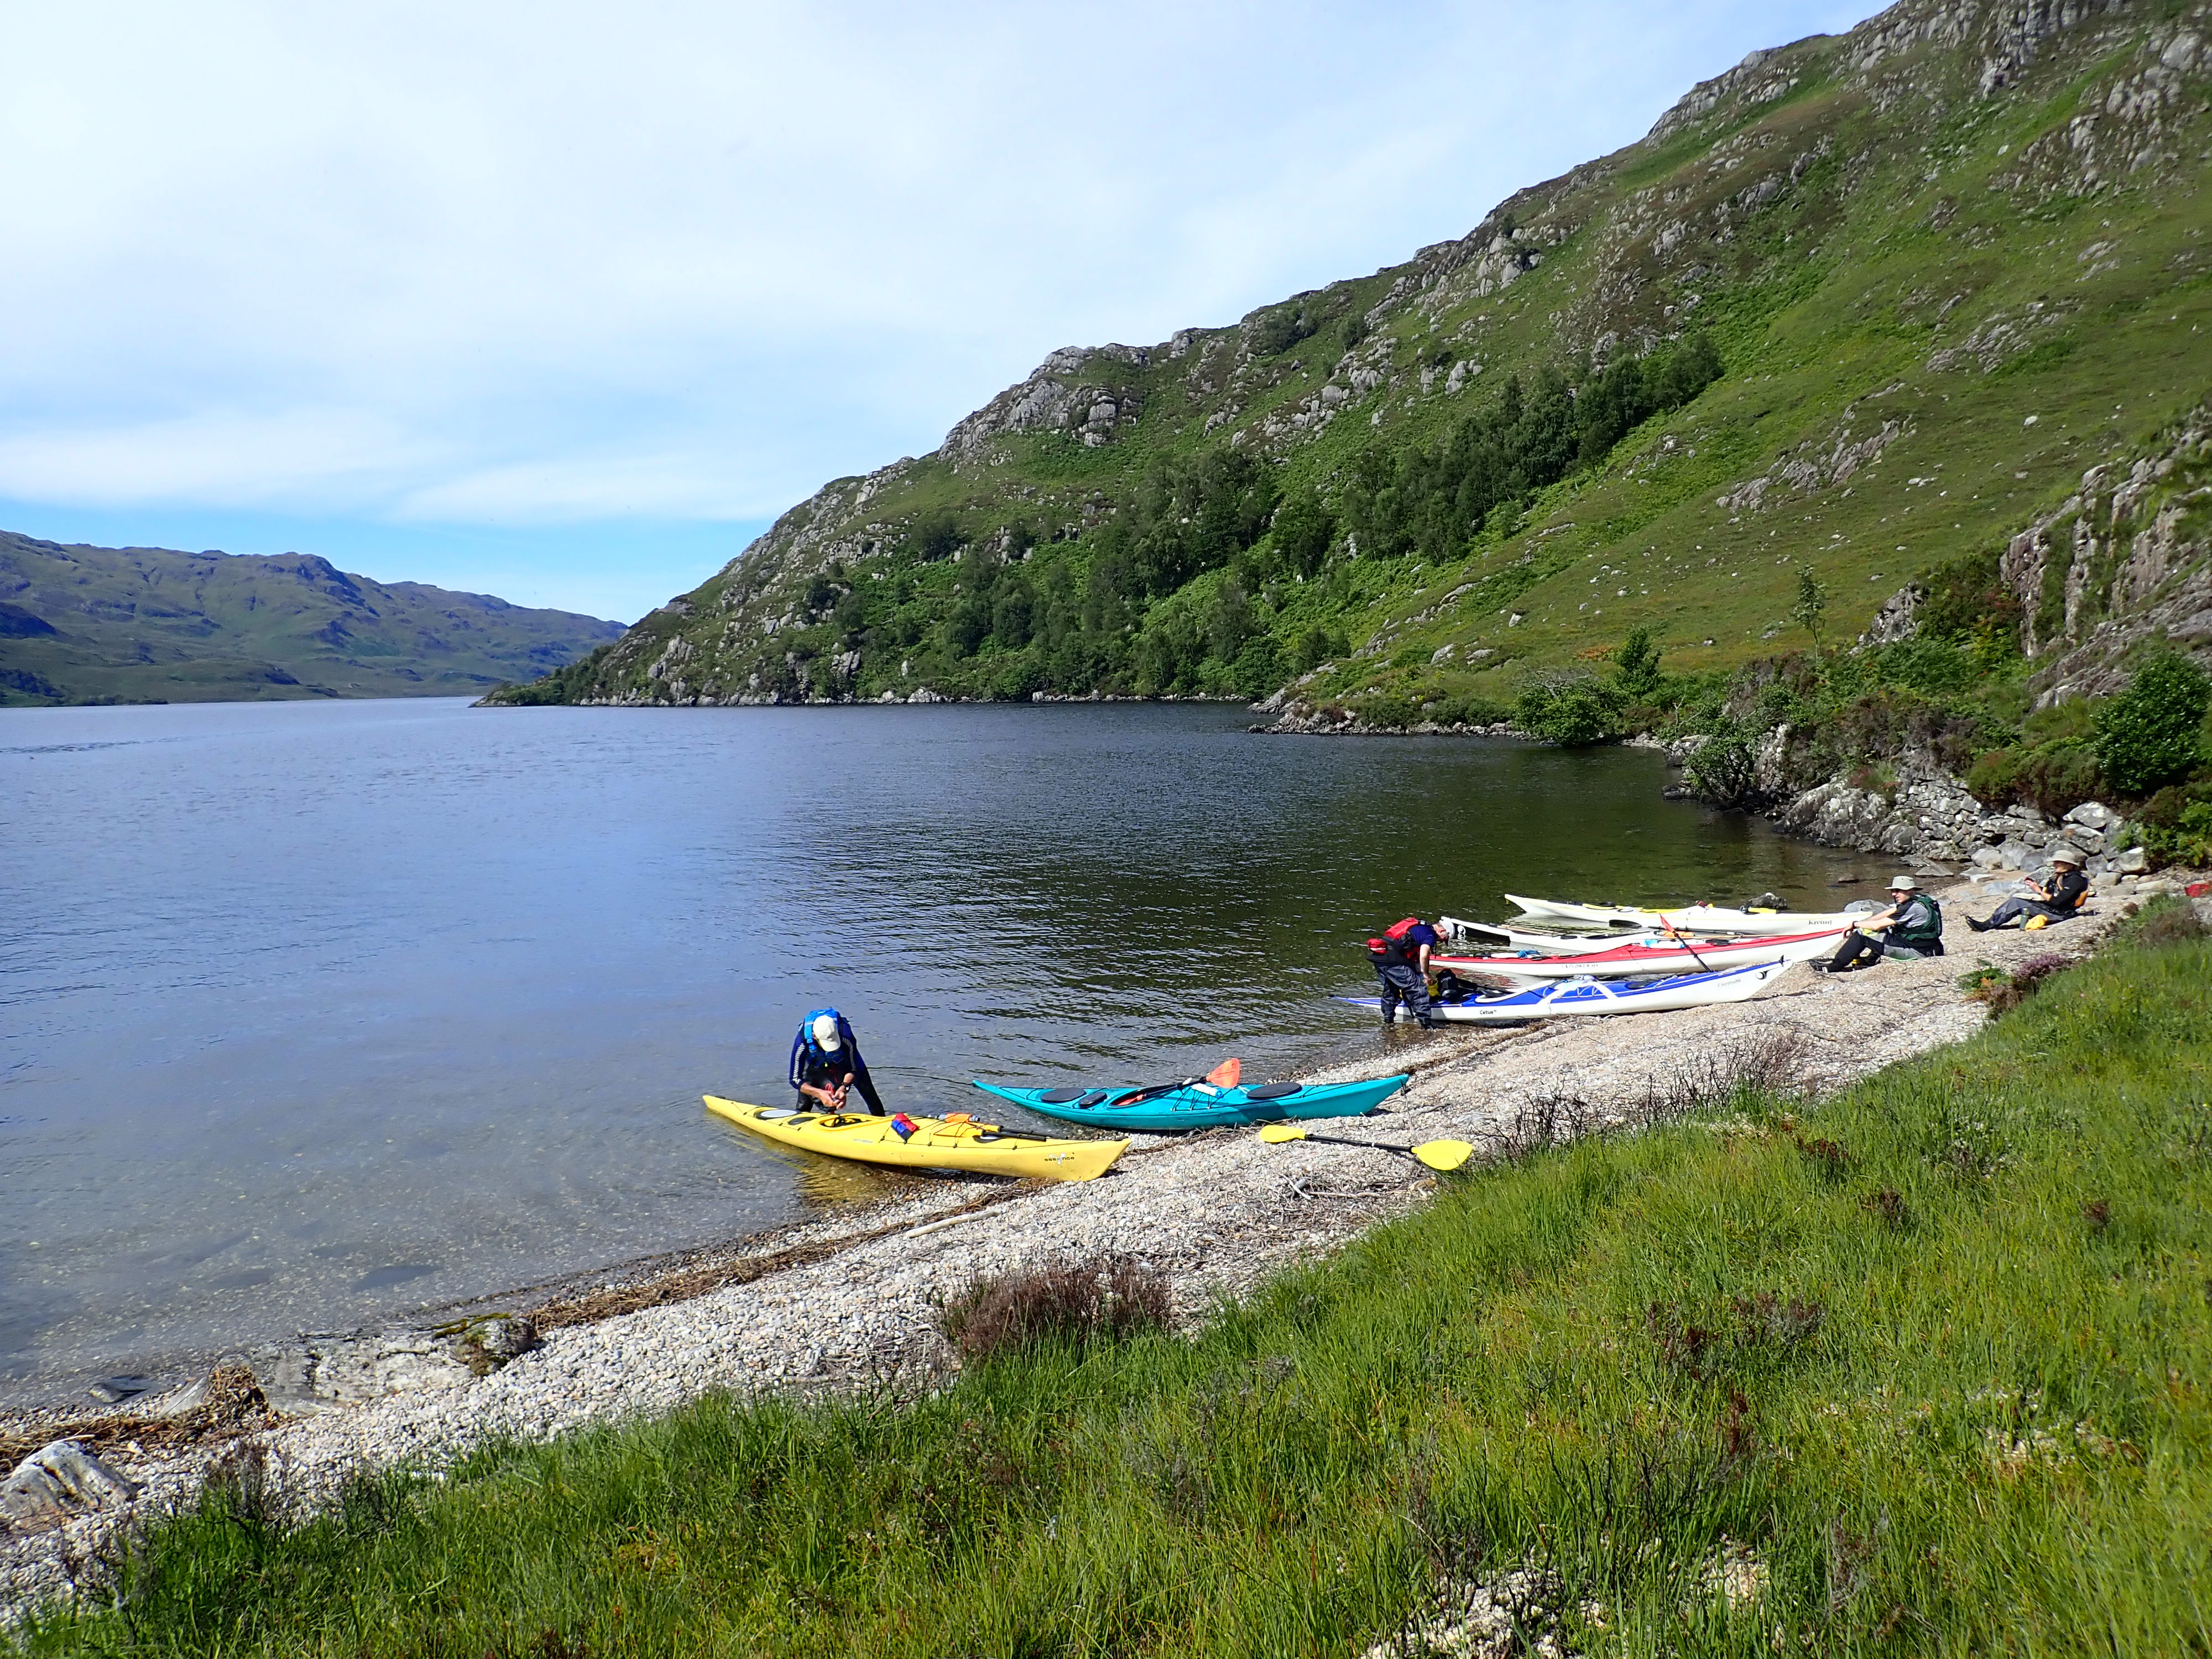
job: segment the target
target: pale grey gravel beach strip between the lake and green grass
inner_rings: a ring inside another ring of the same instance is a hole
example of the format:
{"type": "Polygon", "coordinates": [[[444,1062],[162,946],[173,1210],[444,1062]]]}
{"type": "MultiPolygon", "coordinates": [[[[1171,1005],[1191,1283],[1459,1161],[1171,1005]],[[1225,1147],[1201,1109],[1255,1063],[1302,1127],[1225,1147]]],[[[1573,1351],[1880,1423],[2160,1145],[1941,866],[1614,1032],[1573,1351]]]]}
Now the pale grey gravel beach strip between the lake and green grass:
{"type": "MultiPolygon", "coordinates": [[[[1885,962],[1836,980],[1794,967],[1759,1000],[1714,1009],[1506,1031],[1394,1031],[1374,1060],[1307,1082],[1413,1071],[1411,1086],[1389,1102],[1387,1115],[1318,1128],[1495,1146],[1526,1124],[1531,1102],[1573,1097],[1577,1124],[1619,1121],[1655,1093],[1679,1093],[1686,1082],[1710,1077],[1717,1060],[1745,1055],[1781,1062],[1803,1086],[1832,1093],[1971,1035],[1986,1015],[1960,993],[1958,975],[1978,960],[2017,967],[2035,956],[2084,956],[2119,916],[2119,905],[2106,900],[2099,916],[2062,929],[1971,933],[1964,905],[1955,902],[1971,898],[1971,889],[1944,898],[1953,900],[1951,953],[1929,962],[1885,962]]],[[[246,1438],[292,1502],[314,1504],[363,1467],[436,1469],[487,1438],[544,1440],[655,1416],[717,1389],[918,1391],[953,1367],[933,1325],[933,1296],[973,1276],[1128,1252],[1168,1276],[1177,1318],[1190,1321],[1217,1298],[1245,1294],[1281,1265],[1327,1252],[1431,1190],[1433,1177],[1420,1166],[1385,1152],[1310,1141],[1265,1146],[1250,1130],[1137,1137],[1104,1179],[1015,1188],[918,1183],[911,1197],[783,1232],[750,1254],[690,1261],[657,1292],[650,1283],[624,1285],[615,1298],[635,1305],[670,1296],[657,1305],[602,1318],[588,1316],[588,1301],[546,1307],[542,1323],[551,1329],[542,1343],[487,1376],[394,1374],[403,1391],[276,1418],[246,1438]]],[[[60,1526],[0,1535],[0,1617],[93,1582],[97,1553],[117,1526],[188,1502],[208,1464],[234,1447],[237,1438],[228,1447],[204,1438],[175,1451],[111,1440],[100,1455],[142,1482],[139,1495],[60,1526]]]]}

